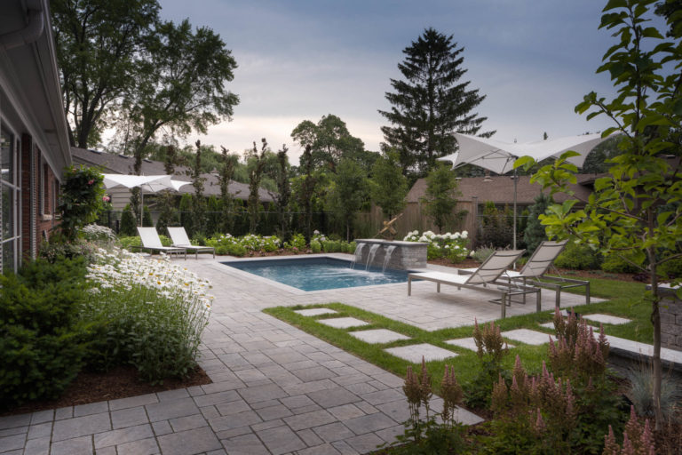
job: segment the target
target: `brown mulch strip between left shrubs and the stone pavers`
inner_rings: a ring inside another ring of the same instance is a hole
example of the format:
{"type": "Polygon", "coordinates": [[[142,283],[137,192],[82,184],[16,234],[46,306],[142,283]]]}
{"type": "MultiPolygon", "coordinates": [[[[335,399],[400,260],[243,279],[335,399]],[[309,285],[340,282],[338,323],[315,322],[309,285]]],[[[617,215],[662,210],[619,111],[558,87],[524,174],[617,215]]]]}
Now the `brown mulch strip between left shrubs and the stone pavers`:
{"type": "Polygon", "coordinates": [[[186,379],[165,379],[163,384],[155,386],[139,380],[138,371],[132,366],[119,366],[107,372],[81,371],[58,399],[25,403],[12,410],[0,412],[0,416],[153,394],[211,382],[209,375],[198,366],[186,379]]]}

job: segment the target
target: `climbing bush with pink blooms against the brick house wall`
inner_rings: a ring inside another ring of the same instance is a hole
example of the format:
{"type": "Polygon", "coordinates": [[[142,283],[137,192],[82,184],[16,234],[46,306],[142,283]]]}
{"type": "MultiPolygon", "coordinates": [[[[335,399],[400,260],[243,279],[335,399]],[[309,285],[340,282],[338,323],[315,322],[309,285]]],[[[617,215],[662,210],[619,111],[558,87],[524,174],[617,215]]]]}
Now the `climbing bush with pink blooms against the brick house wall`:
{"type": "Polygon", "coordinates": [[[67,167],[61,184],[59,228],[66,240],[73,240],[78,229],[97,220],[103,208],[104,177],[95,168],[67,167]]]}

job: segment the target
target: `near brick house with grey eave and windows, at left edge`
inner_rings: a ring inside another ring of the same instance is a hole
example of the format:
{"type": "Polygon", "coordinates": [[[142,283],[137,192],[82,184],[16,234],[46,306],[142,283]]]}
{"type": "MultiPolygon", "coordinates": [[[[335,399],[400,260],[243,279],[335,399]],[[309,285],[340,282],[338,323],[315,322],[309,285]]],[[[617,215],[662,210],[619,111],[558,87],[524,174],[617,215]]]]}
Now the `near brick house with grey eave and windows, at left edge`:
{"type": "Polygon", "coordinates": [[[71,164],[52,25],[44,0],[0,2],[0,267],[35,258],[56,223],[71,164]]]}

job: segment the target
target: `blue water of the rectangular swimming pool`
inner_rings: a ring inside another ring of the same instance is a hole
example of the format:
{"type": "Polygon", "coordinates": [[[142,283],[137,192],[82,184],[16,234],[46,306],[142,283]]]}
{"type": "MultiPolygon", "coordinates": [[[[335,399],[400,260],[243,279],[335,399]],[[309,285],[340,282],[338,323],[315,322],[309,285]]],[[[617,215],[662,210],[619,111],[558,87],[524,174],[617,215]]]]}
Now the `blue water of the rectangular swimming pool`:
{"type": "Polygon", "coordinates": [[[407,283],[408,270],[381,269],[333,258],[230,260],[222,262],[254,275],[293,286],[302,291],[353,288],[374,284],[407,283]]]}

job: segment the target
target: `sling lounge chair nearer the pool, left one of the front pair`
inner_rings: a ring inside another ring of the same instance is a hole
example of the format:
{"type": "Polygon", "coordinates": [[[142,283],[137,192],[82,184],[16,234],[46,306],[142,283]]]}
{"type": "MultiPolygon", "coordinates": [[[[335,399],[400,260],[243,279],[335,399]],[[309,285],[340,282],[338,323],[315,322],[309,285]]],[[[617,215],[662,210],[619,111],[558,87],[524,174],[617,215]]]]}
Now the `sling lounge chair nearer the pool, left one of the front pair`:
{"type": "Polygon", "coordinates": [[[450,284],[456,286],[457,289],[466,288],[496,292],[501,295],[499,303],[502,308],[501,315],[504,317],[506,315],[507,305],[512,304],[512,295],[523,294],[525,297],[527,293],[533,292],[535,293],[537,302],[537,311],[540,312],[540,288],[524,285],[512,286],[507,283],[501,286],[499,283],[496,283],[496,280],[500,278],[500,275],[504,273],[504,270],[506,270],[507,267],[510,267],[516,259],[519,259],[521,254],[523,254],[523,250],[495,251],[479,268],[474,269],[473,273],[469,275],[456,275],[444,272],[419,272],[408,274],[408,295],[412,295],[413,279],[436,283],[436,291],[438,292],[440,292],[440,284],[450,284]],[[488,287],[488,284],[490,287],[488,287]]]}

